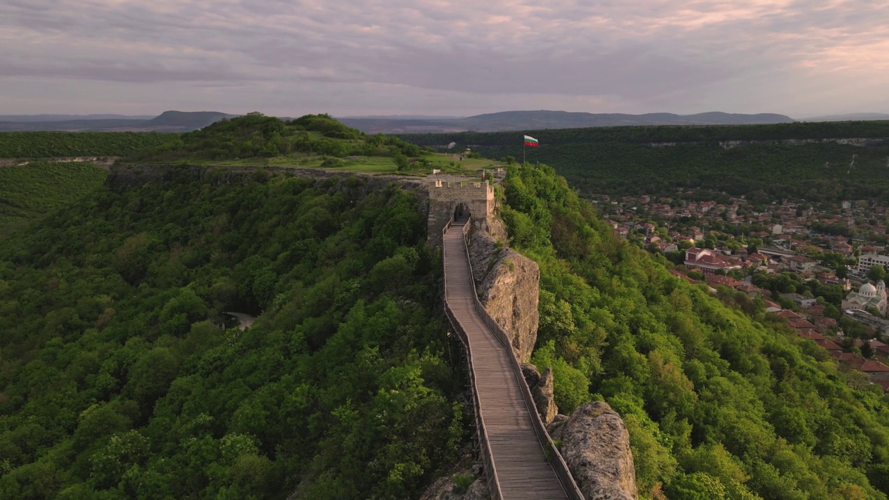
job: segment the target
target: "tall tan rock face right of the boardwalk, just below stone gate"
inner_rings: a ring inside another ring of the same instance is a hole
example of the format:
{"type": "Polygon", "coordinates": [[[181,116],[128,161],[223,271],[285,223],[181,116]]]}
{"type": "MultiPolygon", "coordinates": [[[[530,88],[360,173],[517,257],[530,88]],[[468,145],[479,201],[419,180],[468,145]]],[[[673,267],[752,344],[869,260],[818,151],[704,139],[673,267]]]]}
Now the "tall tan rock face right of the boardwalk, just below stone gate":
{"type": "MultiPolygon", "coordinates": [[[[495,223],[489,222],[489,227],[501,232],[495,223]]],[[[526,362],[537,342],[541,269],[537,262],[503,243],[503,238],[498,241],[486,230],[474,229],[469,237],[469,259],[479,300],[509,335],[518,360],[526,362]]]]}

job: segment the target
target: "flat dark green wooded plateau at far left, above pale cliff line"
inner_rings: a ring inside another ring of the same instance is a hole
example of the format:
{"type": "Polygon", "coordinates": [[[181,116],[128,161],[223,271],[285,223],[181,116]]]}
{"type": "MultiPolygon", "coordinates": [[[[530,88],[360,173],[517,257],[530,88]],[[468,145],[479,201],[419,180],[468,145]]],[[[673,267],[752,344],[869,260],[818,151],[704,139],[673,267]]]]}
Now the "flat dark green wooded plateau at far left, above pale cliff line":
{"type": "Polygon", "coordinates": [[[0,132],[0,158],[120,157],[177,136],[156,132],[0,132]]]}

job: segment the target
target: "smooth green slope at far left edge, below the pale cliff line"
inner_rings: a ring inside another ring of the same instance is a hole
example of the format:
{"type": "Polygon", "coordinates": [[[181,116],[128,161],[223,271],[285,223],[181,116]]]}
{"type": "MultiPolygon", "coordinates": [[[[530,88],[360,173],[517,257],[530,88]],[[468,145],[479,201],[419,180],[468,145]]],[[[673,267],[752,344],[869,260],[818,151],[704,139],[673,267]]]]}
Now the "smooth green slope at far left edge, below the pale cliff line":
{"type": "Polygon", "coordinates": [[[107,175],[87,163],[0,167],[0,239],[95,190],[107,175]]]}

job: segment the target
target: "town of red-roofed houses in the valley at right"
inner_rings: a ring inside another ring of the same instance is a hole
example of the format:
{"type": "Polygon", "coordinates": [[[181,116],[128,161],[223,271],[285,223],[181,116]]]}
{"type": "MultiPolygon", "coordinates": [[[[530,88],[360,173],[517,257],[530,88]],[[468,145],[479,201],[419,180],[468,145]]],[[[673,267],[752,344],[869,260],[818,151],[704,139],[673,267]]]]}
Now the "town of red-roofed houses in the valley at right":
{"type": "Polygon", "coordinates": [[[786,323],[821,356],[826,351],[861,372],[862,383],[889,392],[889,207],[759,195],[591,198],[621,238],[661,254],[674,275],[750,315],[786,323]]]}

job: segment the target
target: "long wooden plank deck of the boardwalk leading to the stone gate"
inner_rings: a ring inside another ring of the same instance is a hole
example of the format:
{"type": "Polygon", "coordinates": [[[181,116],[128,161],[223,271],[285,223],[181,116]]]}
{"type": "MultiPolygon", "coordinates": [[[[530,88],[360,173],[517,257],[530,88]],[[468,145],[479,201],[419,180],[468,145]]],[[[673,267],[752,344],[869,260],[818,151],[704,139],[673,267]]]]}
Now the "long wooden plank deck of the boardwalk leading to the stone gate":
{"type": "MultiPolygon", "coordinates": [[[[522,398],[507,346],[475,309],[463,227],[445,234],[447,302],[469,337],[476,391],[491,456],[504,499],[568,498],[534,432],[531,411],[522,398]]],[[[522,381],[521,383],[524,383],[522,381]]],[[[496,498],[494,492],[492,496],[496,498]]]]}

